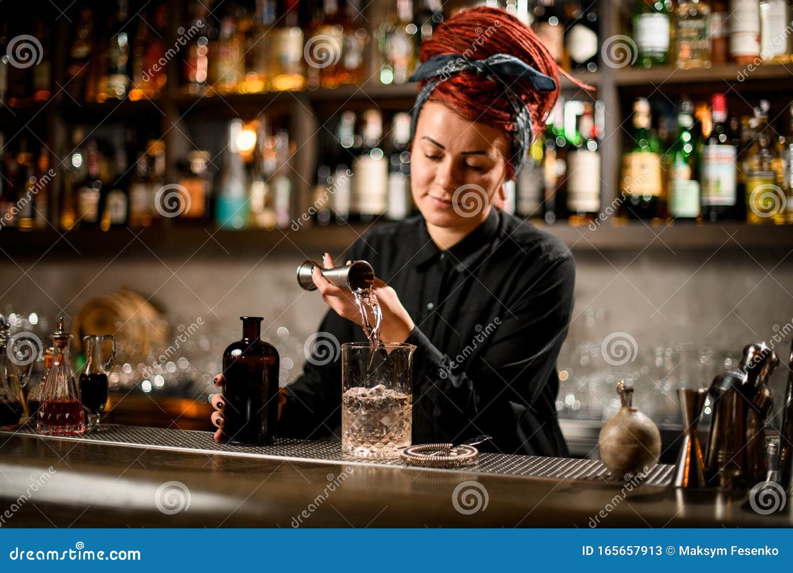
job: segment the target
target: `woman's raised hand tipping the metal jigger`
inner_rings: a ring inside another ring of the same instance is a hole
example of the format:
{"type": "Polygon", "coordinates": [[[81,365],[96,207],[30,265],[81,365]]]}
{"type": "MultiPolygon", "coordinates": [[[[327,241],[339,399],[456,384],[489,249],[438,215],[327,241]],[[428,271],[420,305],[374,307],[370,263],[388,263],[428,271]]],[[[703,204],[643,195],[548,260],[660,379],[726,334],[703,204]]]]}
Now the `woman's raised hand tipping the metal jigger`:
{"type": "MultiPolygon", "coordinates": [[[[333,269],[335,265],[331,259],[331,255],[325,253],[322,258],[322,264],[326,269],[333,269]]],[[[350,264],[350,261],[347,261],[350,264]]],[[[352,322],[363,326],[363,316],[361,311],[358,310],[358,304],[355,303],[354,296],[347,288],[339,288],[332,285],[320,273],[320,269],[314,268],[312,279],[316,288],[322,293],[322,300],[330,308],[336,311],[339,316],[349,319],[352,322]]],[[[380,308],[383,313],[381,322],[380,335],[383,342],[404,342],[408,338],[413,328],[416,325],[408,315],[408,311],[400,303],[397,292],[386,285],[378,278],[374,279],[374,294],[377,296],[377,301],[380,303],[380,308]]],[[[370,323],[374,323],[374,317],[370,317],[370,323]]]]}

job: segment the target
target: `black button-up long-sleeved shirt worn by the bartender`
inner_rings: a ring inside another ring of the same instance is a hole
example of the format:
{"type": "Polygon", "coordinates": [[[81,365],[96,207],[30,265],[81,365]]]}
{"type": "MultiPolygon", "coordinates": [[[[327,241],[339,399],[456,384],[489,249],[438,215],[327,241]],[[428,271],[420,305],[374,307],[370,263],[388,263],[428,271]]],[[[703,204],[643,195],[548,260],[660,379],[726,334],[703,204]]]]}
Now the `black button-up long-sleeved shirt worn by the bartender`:
{"type": "MultiPolygon", "coordinates": [[[[370,229],[347,259],[370,262],[416,323],[405,341],[417,346],[414,444],[490,434],[484,451],[567,455],[555,406],[556,360],[573,308],[575,266],[559,239],[493,207],[446,251],[415,216],[370,229]]],[[[319,332],[339,344],[366,342],[361,327],[333,310],[319,332]]],[[[287,387],[280,436],[340,439],[341,353],[334,354],[321,366],[306,362],[287,387]]]]}

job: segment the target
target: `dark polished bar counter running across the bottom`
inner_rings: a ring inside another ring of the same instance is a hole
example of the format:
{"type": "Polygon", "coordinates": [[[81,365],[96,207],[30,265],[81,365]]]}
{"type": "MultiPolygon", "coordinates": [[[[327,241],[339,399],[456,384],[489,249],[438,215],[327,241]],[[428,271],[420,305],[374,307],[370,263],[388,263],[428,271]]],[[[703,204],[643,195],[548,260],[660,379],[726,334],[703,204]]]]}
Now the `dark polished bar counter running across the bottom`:
{"type": "Polygon", "coordinates": [[[209,432],[108,430],[136,438],[122,444],[111,438],[40,437],[28,426],[0,432],[2,526],[793,525],[789,504],[782,513],[763,515],[750,506],[748,492],[661,485],[670,479],[670,466],[632,485],[612,481],[592,460],[482,454],[477,466],[440,470],[371,463],[340,452],[337,459],[322,459],[322,452],[339,447],[332,442],[279,441],[254,449],[216,445],[209,432]],[[162,439],[147,444],[147,435],[162,439]],[[174,445],[179,443],[185,447],[174,445]],[[548,477],[551,470],[546,476],[540,470],[527,471],[540,476],[512,475],[511,468],[564,468],[570,477],[548,477]]]}

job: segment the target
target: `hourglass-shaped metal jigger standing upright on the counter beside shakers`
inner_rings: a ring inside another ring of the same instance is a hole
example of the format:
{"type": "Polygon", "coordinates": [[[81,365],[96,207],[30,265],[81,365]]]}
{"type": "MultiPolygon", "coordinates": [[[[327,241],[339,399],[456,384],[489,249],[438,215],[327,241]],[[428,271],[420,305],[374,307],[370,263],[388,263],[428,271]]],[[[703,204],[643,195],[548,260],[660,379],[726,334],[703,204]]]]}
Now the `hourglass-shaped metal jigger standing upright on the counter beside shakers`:
{"type": "Polygon", "coordinates": [[[675,487],[705,487],[705,459],[699,447],[697,426],[707,398],[706,388],[678,389],[680,414],[683,416],[683,445],[677,456],[675,487]]]}

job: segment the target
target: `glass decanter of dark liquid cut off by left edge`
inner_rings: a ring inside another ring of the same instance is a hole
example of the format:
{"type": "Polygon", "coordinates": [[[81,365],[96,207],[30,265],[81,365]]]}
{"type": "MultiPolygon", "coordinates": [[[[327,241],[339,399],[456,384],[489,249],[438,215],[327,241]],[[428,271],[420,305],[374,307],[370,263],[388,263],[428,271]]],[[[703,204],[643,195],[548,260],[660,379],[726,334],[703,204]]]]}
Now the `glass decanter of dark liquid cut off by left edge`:
{"type": "Polygon", "coordinates": [[[0,315],[0,429],[10,430],[28,421],[28,407],[22,386],[33,371],[36,355],[17,356],[10,336],[11,323],[0,315]],[[27,368],[20,374],[18,366],[27,368]]]}

